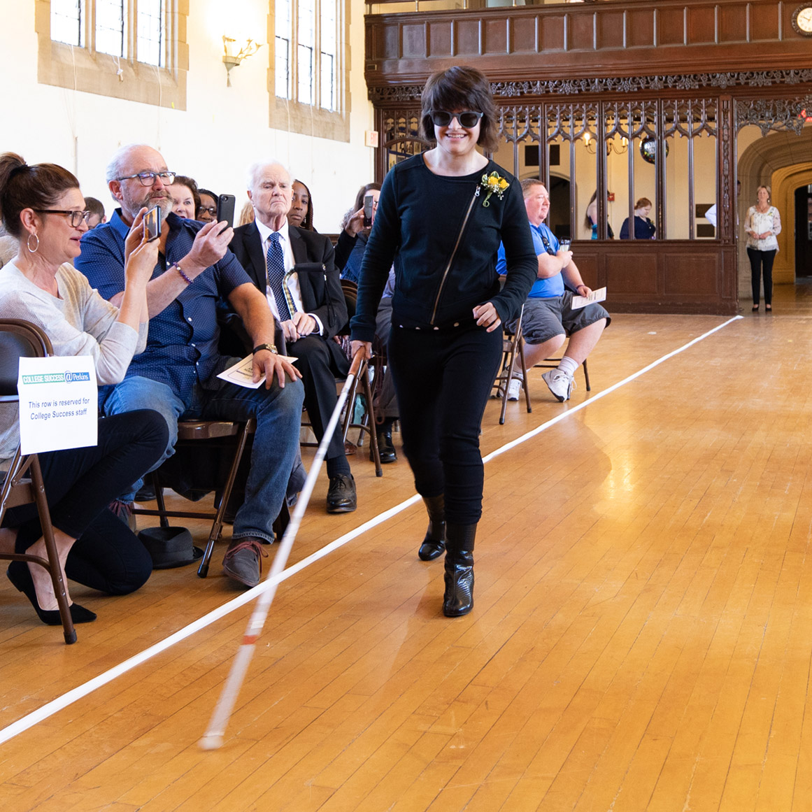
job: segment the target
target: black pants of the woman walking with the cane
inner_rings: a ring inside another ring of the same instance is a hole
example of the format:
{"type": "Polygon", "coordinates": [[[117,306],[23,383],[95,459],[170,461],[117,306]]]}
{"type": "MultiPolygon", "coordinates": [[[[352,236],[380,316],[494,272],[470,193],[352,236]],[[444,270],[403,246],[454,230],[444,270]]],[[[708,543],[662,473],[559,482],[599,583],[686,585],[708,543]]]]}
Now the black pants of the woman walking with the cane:
{"type": "Polygon", "coordinates": [[[388,356],[417,493],[444,494],[447,521],[475,524],[485,479],[479,427],[502,358],[502,330],[395,324],[388,356]]]}

